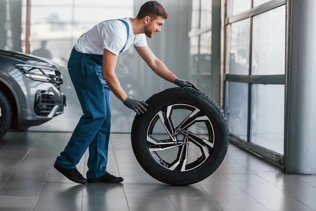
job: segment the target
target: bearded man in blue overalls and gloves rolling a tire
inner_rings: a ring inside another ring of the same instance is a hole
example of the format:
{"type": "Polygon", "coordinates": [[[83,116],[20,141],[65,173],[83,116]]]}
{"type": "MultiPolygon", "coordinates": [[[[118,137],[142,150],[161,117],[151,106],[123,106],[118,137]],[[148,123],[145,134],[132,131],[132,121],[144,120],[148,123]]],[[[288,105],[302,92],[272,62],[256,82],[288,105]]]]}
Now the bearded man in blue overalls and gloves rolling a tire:
{"type": "Polygon", "coordinates": [[[140,8],[136,18],[101,22],[76,41],[68,70],[83,116],[54,165],[73,182],[85,184],[123,181],[122,177],[115,177],[106,170],[111,127],[110,90],[137,114],[146,112],[148,104],[128,97],[122,89],[114,71],[121,52],[134,46],[156,74],[180,87],[198,90],[192,82],[177,78],[147,46],[145,36],[151,38],[161,31],[167,16],[162,5],[149,1],[140,8]],[[85,179],[78,172],[76,164],[87,148],[89,158],[85,179]]]}

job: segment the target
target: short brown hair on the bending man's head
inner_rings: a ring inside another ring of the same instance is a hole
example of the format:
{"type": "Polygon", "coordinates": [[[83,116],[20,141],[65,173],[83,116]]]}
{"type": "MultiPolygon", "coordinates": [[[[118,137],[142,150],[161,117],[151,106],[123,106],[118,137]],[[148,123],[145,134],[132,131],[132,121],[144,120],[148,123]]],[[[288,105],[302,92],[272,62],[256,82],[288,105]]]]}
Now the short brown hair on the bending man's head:
{"type": "Polygon", "coordinates": [[[167,11],[157,1],[146,2],[140,7],[137,18],[142,19],[146,16],[149,16],[152,19],[155,19],[157,16],[161,16],[164,19],[168,18],[167,11]]]}

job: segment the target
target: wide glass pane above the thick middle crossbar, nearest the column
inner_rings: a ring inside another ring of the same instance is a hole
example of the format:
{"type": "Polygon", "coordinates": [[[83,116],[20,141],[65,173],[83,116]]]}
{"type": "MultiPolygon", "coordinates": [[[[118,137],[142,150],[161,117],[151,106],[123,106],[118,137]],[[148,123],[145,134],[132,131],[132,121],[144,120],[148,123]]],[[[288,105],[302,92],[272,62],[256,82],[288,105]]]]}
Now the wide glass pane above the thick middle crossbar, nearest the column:
{"type": "Polygon", "coordinates": [[[285,74],[285,6],[253,17],[253,75],[285,74]]]}

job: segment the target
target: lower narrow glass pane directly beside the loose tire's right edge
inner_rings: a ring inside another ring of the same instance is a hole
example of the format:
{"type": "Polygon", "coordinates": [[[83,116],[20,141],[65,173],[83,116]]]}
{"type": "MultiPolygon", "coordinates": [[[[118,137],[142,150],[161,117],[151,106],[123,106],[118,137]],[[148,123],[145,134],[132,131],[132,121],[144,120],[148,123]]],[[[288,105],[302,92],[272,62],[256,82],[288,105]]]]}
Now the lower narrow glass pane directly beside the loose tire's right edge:
{"type": "Polygon", "coordinates": [[[246,141],[248,83],[226,82],[225,114],[230,133],[246,141]]]}

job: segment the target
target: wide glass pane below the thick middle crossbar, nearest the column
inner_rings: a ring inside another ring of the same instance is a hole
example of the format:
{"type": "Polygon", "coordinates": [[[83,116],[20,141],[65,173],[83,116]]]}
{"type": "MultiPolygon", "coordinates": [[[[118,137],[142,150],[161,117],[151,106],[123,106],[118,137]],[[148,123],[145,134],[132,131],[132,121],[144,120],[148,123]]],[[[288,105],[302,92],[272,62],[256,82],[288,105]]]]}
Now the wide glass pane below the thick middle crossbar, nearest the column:
{"type": "Polygon", "coordinates": [[[250,141],[284,153],[284,85],[252,85],[250,141]]]}

